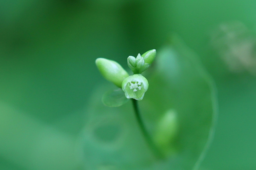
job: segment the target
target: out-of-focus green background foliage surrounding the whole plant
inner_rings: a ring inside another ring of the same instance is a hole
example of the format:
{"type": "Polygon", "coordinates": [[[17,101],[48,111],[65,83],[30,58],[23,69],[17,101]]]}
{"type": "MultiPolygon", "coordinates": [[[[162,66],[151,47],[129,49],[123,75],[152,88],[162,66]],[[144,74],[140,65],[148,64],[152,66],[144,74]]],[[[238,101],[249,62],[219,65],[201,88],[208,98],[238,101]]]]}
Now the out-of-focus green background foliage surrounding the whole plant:
{"type": "Polygon", "coordinates": [[[0,169],[83,169],[77,137],[95,125],[86,114],[92,92],[108,83],[95,59],[124,66],[173,32],[218,90],[216,134],[200,168],[256,169],[255,8],[249,0],[1,0],[0,169]]]}

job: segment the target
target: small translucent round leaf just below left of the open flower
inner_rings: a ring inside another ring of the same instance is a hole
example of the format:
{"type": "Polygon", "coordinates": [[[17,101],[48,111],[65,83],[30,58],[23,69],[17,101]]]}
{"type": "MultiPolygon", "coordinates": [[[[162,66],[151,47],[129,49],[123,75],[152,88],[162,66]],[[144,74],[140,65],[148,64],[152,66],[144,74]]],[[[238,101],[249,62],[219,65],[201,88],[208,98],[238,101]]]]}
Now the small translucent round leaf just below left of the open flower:
{"type": "Polygon", "coordinates": [[[124,96],[124,92],[121,88],[115,90],[109,90],[102,96],[102,102],[108,107],[122,106],[128,99],[124,96]]]}

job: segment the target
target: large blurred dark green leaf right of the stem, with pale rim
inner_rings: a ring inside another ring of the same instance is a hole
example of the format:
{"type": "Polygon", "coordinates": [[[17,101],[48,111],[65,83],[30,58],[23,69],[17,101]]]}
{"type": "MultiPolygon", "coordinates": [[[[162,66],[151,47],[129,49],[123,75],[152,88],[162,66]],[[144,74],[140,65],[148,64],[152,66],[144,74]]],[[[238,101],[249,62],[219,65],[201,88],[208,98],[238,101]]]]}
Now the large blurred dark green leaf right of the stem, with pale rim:
{"type": "Polygon", "coordinates": [[[216,92],[213,82],[200,66],[196,54],[176,35],[156,59],[155,74],[149,78],[150,87],[141,102],[142,113],[155,125],[166,111],[174,109],[179,127],[177,138],[170,143],[173,155],[162,169],[196,169],[214,130],[216,92]]]}

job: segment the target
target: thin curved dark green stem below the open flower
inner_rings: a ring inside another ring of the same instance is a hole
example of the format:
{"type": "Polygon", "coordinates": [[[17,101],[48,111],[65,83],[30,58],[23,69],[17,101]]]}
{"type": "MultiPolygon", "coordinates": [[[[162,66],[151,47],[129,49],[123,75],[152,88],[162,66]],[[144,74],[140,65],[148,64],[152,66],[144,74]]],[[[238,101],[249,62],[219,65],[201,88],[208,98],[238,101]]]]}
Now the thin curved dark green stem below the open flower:
{"type": "Polygon", "coordinates": [[[155,154],[156,158],[162,159],[163,158],[162,153],[160,152],[160,150],[158,150],[158,148],[154,144],[152,138],[150,137],[150,135],[146,131],[146,128],[145,128],[145,126],[144,126],[144,124],[142,122],[142,118],[141,118],[140,111],[139,111],[139,108],[138,108],[138,101],[135,100],[135,99],[132,99],[132,104],[133,104],[133,107],[134,107],[136,118],[138,120],[138,124],[140,126],[140,129],[142,131],[142,134],[143,134],[146,142],[148,143],[148,146],[150,147],[152,152],[155,154]]]}

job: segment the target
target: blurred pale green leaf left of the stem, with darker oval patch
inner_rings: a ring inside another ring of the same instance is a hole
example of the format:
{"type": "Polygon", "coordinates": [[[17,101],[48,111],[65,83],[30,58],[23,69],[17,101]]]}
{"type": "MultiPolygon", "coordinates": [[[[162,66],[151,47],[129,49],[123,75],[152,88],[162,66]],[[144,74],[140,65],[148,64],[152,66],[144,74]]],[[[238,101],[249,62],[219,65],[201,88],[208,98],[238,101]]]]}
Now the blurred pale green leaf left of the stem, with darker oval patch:
{"type": "Polygon", "coordinates": [[[81,132],[85,169],[136,170],[154,162],[133,113],[131,100],[107,107],[100,98],[107,86],[96,89],[81,132]]]}

